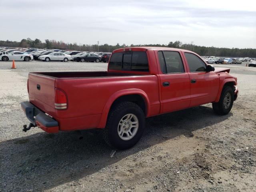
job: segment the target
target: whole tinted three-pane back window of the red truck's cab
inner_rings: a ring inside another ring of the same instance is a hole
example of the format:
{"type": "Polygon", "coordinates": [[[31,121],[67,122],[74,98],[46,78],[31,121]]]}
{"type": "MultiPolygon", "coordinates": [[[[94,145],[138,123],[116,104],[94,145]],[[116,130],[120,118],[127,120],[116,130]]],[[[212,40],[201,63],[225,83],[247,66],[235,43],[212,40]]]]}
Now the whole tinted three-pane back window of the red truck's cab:
{"type": "Polygon", "coordinates": [[[148,72],[148,56],[143,51],[114,53],[110,58],[108,69],[148,72]]]}

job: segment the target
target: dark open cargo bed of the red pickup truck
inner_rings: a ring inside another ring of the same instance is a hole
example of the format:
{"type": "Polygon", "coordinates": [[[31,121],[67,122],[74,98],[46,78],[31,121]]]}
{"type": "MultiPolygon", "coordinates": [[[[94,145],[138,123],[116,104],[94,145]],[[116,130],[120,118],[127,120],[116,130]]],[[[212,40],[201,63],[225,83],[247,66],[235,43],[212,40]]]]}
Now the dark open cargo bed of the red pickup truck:
{"type": "Polygon", "coordinates": [[[51,78],[102,78],[114,76],[138,76],[138,74],[100,72],[33,72],[30,74],[48,76],[51,78]]]}

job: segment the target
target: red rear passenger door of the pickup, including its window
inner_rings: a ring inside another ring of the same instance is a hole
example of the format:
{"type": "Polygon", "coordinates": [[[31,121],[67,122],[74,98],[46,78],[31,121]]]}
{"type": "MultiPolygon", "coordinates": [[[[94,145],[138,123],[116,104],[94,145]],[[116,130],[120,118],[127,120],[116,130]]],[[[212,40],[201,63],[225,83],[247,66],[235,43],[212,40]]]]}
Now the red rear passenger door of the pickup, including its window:
{"type": "Polygon", "coordinates": [[[162,113],[188,108],[190,104],[190,78],[179,51],[158,51],[162,90],[162,113]]]}

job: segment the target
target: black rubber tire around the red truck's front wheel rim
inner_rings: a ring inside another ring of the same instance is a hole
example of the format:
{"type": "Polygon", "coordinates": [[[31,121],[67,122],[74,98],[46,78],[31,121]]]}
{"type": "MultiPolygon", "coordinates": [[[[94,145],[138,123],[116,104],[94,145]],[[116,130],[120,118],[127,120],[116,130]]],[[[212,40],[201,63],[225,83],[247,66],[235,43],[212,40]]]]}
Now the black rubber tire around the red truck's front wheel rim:
{"type": "Polygon", "coordinates": [[[222,93],[220,95],[219,102],[212,103],[213,111],[218,115],[226,115],[232,109],[233,102],[234,102],[234,91],[233,91],[232,87],[224,86],[224,88],[222,89],[222,93]],[[228,93],[230,94],[230,105],[228,106],[228,108],[225,108],[224,99],[225,99],[226,94],[228,94],[228,93]]]}

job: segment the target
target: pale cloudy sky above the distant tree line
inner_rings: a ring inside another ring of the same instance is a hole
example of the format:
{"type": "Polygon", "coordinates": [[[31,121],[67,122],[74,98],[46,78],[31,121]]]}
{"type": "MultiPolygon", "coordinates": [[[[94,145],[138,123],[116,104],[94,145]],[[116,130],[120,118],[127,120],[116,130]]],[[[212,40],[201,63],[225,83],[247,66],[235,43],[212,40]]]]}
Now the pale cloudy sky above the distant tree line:
{"type": "Polygon", "coordinates": [[[254,0],[0,0],[0,40],[256,48],[254,0]]]}

